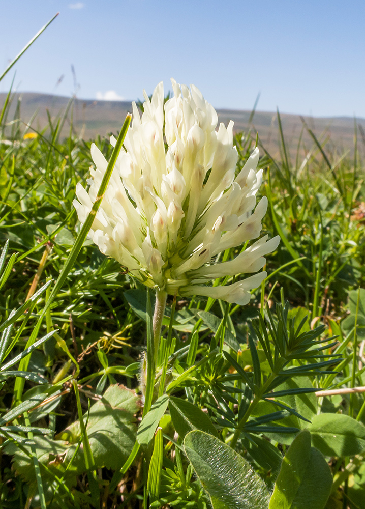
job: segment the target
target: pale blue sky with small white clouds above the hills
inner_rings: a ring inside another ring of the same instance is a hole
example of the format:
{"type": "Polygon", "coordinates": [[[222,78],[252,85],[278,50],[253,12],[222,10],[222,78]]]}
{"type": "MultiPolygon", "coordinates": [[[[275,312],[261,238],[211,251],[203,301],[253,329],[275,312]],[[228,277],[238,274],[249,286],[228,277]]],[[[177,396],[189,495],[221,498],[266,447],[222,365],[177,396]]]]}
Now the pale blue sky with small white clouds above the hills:
{"type": "Polygon", "coordinates": [[[14,66],[19,91],[70,96],[73,65],[79,98],[142,98],[174,77],[216,108],[251,109],[260,93],[262,111],[365,118],[363,0],[1,4],[0,73],[60,13],[14,66]]]}

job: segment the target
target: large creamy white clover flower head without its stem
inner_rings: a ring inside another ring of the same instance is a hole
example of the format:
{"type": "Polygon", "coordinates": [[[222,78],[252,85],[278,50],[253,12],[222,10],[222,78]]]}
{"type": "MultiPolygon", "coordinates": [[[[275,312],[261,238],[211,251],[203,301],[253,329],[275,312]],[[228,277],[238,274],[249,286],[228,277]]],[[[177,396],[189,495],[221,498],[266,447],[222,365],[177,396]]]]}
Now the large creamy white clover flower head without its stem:
{"type": "MultiPolygon", "coordinates": [[[[217,113],[196,87],[189,90],[172,80],[172,88],[174,96],[165,106],[162,82],[151,99],[144,91],[142,117],[132,104],[125,149],[89,237],[148,287],[247,304],[250,290],[261,284],[266,272],[224,287],[209,283],[221,276],[257,272],[265,265],[264,255],[278,247],[279,237],[265,236],[235,259],[212,263],[225,249],[260,235],[267,199],[264,196],[256,206],[262,180],[262,170],[256,171],[259,150],[255,148],[235,177],[233,122],[228,127],[220,124],[217,131],[217,113]]],[[[110,142],[114,145],[115,138],[110,142]]],[[[73,202],[81,223],[107,168],[95,144],[92,158],[96,169],[90,169],[89,190],[78,184],[78,201],[73,202]]]]}

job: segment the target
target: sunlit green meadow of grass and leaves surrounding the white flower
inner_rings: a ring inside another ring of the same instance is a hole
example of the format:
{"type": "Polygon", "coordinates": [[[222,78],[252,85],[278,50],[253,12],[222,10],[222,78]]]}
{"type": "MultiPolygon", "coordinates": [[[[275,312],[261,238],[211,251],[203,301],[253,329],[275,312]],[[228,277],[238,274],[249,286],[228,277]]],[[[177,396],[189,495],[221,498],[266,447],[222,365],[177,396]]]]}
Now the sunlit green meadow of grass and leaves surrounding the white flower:
{"type": "MultiPolygon", "coordinates": [[[[356,124],[351,153],[307,125],[311,146],[289,146],[279,114],[280,157],[252,128],[235,134],[237,174],[260,149],[261,237],[279,247],[245,306],[168,296],[156,343],[154,291],[100,252],[93,217],[81,228],[72,203],[91,142],[61,135],[62,117],[36,132],[11,103],[0,114],[1,506],[364,507],[356,124]]],[[[110,173],[116,149],[94,141],[110,173]]]]}

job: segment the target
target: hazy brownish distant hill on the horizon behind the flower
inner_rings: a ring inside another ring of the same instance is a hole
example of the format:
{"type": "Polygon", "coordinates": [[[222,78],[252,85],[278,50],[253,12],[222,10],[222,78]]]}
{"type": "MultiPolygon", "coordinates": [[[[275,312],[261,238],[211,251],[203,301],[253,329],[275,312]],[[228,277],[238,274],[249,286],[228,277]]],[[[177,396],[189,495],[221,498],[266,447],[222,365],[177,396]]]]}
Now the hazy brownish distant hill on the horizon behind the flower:
{"type": "MultiPolygon", "coordinates": [[[[0,93],[0,107],[4,104],[6,94],[0,93]]],[[[48,125],[47,110],[51,118],[63,118],[69,107],[68,115],[62,134],[67,136],[70,132],[70,119],[72,115],[73,132],[84,139],[94,139],[98,135],[105,136],[116,133],[124,122],[126,114],[131,111],[131,102],[128,101],[100,101],[88,99],[74,99],[70,104],[67,97],[37,94],[32,92],[13,94],[12,105],[7,121],[13,120],[18,101],[20,100],[20,118],[24,123],[32,120],[32,127],[39,130],[48,125]]],[[[256,111],[249,125],[251,111],[234,109],[217,110],[219,122],[228,124],[234,121],[235,132],[251,129],[253,136],[256,131],[263,147],[272,155],[277,156],[279,149],[279,128],[277,114],[266,111],[256,111]]],[[[303,122],[298,115],[281,114],[281,122],[284,137],[292,157],[296,156],[297,146],[303,122]]],[[[351,117],[333,118],[304,118],[307,125],[315,135],[327,140],[327,147],[333,152],[333,147],[341,154],[345,150],[353,151],[354,145],[354,119],[351,117]]],[[[365,147],[365,119],[357,119],[358,146],[363,150],[365,147]]],[[[301,156],[313,145],[313,140],[307,130],[302,133],[301,156]]]]}

